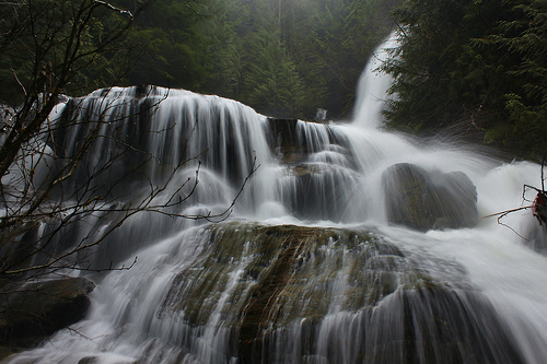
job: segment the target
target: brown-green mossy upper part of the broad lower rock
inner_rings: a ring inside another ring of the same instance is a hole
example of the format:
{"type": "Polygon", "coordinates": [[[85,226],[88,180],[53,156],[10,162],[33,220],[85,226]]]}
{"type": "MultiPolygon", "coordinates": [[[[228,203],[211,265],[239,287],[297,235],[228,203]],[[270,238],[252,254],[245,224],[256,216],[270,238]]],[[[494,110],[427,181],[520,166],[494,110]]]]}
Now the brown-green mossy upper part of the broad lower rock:
{"type": "Polygon", "coordinates": [[[319,325],[334,305],[369,310],[401,286],[430,282],[404,251],[366,230],[245,223],[207,230],[207,251],[178,274],[162,315],[176,313],[196,328],[221,325],[245,361],[257,360],[267,332],[303,319],[319,325]],[[336,297],[339,284],[344,295],[336,297]]]}

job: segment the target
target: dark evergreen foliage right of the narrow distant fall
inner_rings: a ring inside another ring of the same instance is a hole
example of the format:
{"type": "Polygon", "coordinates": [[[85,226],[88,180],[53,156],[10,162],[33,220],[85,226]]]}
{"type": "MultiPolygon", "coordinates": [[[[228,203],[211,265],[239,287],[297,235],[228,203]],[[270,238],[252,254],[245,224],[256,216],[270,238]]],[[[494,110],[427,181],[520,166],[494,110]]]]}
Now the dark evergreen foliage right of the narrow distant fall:
{"type": "Polygon", "coordinates": [[[398,98],[388,125],[478,131],[485,142],[547,148],[547,2],[407,0],[394,12],[401,47],[385,70],[398,98]]]}

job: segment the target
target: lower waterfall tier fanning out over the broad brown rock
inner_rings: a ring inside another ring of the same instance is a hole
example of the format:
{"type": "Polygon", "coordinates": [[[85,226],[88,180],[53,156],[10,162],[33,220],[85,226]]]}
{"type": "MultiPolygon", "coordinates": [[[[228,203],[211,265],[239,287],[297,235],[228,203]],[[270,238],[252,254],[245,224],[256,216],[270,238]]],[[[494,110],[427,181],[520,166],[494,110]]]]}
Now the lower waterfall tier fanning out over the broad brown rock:
{"type": "Polygon", "coordinates": [[[79,336],[10,363],[525,362],[465,268],[380,231],[229,222],[139,255],[79,336]]]}

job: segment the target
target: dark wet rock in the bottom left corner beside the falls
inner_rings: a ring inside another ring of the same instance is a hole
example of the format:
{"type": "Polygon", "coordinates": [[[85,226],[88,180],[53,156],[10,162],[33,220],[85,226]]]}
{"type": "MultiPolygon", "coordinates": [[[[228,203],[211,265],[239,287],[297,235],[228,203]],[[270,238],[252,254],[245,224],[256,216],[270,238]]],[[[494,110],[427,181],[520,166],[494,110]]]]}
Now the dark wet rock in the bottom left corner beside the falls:
{"type": "Polygon", "coordinates": [[[31,347],[81,320],[90,307],[93,282],[69,278],[9,284],[0,293],[0,345],[31,347]]]}

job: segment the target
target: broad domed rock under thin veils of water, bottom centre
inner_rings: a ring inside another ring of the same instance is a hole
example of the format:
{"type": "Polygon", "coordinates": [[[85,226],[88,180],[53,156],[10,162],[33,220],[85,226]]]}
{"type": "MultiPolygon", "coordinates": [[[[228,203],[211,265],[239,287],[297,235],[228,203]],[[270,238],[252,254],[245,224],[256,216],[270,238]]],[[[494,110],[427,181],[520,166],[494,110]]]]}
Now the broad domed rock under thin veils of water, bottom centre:
{"type": "Polygon", "coordinates": [[[163,329],[190,351],[191,338],[207,337],[209,362],[523,362],[488,300],[435,280],[374,232],[207,231],[207,249],[179,272],[161,317],[178,322],[163,329]]]}

